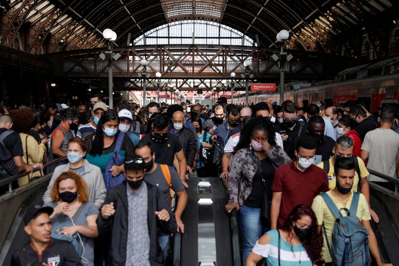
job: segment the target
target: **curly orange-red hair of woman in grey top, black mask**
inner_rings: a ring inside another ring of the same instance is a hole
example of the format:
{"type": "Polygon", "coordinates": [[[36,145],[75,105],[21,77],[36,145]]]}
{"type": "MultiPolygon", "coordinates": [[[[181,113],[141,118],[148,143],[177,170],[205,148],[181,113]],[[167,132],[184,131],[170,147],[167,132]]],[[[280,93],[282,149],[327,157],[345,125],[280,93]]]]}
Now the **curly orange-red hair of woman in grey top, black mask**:
{"type": "Polygon", "coordinates": [[[76,174],[73,171],[63,172],[57,177],[54,182],[54,186],[51,189],[51,201],[58,201],[59,197],[59,183],[66,179],[72,179],[76,183],[77,193],[79,193],[79,202],[88,202],[88,193],[87,193],[87,184],[86,181],[83,180],[81,176],[76,174]]]}

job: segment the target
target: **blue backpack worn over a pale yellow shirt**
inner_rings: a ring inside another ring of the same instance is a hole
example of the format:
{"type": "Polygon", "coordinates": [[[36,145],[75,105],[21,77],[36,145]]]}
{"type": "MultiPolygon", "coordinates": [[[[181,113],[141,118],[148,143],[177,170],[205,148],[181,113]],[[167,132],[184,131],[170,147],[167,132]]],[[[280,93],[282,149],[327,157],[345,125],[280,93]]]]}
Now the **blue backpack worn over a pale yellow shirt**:
{"type": "Polygon", "coordinates": [[[320,195],[335,216],[335,224],[331,236],[331,247],[328,243],[326,229],[323,224],[327,248],[336,266],[370,266],[369,232],[356,216],[359,205],[359,193],[353,192],[351,208],[338,210],[331,198],[323,193],[320,195]],[[341,210],[348,216],[343,217],[341,210]]]}

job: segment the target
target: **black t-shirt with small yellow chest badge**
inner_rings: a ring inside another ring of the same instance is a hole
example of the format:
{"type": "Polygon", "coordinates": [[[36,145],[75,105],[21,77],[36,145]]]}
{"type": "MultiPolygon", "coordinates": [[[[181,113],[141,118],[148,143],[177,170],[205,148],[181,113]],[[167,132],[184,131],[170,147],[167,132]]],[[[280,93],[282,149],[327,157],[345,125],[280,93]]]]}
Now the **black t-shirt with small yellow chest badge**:
{"type": "Polygon", "coordinates": [[[182,144],[180,144],[179,138],[168,132],[168,139],[163,143],[156,142],[151,139],[151,134],[146,135],[141,139],[143,142],[150,142],[155,151],[155,162],[157,164],[167,164],[173,167],[173,160],[175,154],[183,151],[182,144]]]}

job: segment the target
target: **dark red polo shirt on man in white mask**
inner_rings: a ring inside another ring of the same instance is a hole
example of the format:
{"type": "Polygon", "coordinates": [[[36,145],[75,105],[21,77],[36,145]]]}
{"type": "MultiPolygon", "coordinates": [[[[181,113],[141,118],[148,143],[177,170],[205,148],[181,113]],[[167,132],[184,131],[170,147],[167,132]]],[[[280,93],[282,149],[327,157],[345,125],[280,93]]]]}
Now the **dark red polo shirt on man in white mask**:
{"type": "Polygon", "coordinates": [[[310,207],[317,195],[328,191],[327,173],[315,165],[301,172],[292,161],[277,168],[271,189],[282,192],[278,215],[278,226],[281,227],[295,206],[306,204],[310,207]]]}

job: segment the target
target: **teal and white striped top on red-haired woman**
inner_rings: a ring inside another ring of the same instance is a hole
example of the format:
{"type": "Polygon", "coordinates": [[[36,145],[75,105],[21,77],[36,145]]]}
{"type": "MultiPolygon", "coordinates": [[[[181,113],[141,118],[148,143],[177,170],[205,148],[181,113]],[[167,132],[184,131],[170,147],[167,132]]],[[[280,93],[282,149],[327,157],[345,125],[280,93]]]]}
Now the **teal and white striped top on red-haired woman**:
{"type": "MultiPolygon", "coordinates": [[[[278,266],[278,232],[270,230],[270,244],[260,245],[256,242],[253,253],[266,258],[267,266],[278,266]]],[[[312,266],[312,262],[302,244],[292,246],[282,237],[280,238],[280,265],[281,266],[312,266]]]]}

